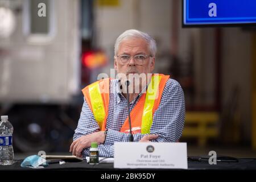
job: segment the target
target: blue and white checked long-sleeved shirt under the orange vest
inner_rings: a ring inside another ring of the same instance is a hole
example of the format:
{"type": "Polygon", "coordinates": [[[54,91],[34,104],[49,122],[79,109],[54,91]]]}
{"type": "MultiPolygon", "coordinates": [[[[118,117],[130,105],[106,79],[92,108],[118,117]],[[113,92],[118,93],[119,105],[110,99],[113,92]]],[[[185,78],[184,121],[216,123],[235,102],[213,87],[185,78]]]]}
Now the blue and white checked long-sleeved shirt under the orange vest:
{"type": "MultiPolygon", "coordinates": [[[[146,87],[142,92],[130,102],[130,111],[137,104],[142,93],[146,90],[146,87]]],[[[110,81],[110,93],[109,93],[109,113],[106,123],[106,129],[108,134],[106,135],[105,143],[98,146],[99,155],[101,157],[113,157],[114,156],[114,142],[129,142],[129,134],[121,133],[123,123],[128,117],[127,100],[121,94],[119,89],[118,80],[110,81]]],[[[173,79],[168,79],[163,90],[160,105],[155,110],[153,116],[153,123],[150,129],[150,134],[158,134],[157,139],[152,142],[176,142],[179,140],[182,134],[185,117],[185,101],[183,89],[180,84],[173,79]]],[[[94,115],[90,107],[84,101],[82,105],[82,111],[75,130],[73,140],[94,133],[99,130],[98,123],[94,119],[94,115]]],[[[144,135],[147,134],[134,134],[134,142],[138,142],[144,135]]],[[[88,156],[89,149],[85,148],[82,151],[82,155],[88,156]]]]}

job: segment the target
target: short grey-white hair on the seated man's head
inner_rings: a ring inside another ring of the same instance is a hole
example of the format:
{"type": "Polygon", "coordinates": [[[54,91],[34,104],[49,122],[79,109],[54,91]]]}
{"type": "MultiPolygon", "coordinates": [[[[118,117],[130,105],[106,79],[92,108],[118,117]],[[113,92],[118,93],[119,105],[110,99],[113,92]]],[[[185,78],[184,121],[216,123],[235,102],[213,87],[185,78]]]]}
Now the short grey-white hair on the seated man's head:
{"type": "Polygon", "coordinates": [[[142,38],[142,39],[146,40],[146,42],[148,44],[148,48],[150,49],[151,55],[155,56],[155,54],[156,54],[155,40],[147,33],[141,32],[139,30],[134,30],[134,29],[126,30],[125,32],[123,32],[121,35],[118,36],[117,40],[115,40],[115,47],[114,47],[115,48],[114,49],[115,56],[117,56],[119,44],[123,40],[129,39],[129,38],[142,38]]]}

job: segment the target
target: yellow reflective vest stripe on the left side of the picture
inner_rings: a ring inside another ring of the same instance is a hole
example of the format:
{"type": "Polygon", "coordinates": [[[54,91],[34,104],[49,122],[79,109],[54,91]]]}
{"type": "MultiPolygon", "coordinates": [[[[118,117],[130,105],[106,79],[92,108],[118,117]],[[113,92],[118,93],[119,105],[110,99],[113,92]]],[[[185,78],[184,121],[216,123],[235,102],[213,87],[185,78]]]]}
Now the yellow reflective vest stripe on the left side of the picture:
{"type": "Polygon", "coordinates": [[[89,95],[90,95],[90,103],[92,104],[94,118],[101,129],[106,113],[105,113],[104,103],[101,97],[100,85],[98,81],[89,85],[89,95]]]}

